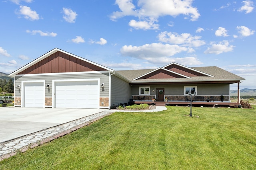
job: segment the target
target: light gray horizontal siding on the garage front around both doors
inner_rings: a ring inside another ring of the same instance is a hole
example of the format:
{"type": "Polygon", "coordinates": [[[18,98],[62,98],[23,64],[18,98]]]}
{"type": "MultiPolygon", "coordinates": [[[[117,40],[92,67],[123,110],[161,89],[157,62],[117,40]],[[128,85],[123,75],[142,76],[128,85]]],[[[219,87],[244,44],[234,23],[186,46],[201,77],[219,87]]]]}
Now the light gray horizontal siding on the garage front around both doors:
{"type": "Polygon", "coordinates": [[[15,96],[21,97],[22,81],[45,80],[45,85],[50,84],[50,89],[45,88],[45,97],[52,97],[52,80],[65,79],[94,79],[100,78],[100,84],[104,83],[105,92],[102,92],[100,86],[100,97],[108,97],[109,95],[109,73],[93,73],[93,74],[64,74],[64,75],[44,75],[44,76],[16,76],[15,84],[20,85],[20,91],[15,88],[15,96]]]}

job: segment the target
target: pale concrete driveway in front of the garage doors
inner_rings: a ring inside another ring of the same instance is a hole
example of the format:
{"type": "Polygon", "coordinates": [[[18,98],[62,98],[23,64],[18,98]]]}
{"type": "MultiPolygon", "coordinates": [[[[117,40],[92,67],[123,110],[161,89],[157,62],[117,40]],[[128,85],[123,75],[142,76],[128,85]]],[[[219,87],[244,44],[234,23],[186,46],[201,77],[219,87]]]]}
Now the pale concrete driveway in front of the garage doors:
{"type": "Polygon", "coordinates": [[[0,143],[106,110],[0,107],[0,143]]]}

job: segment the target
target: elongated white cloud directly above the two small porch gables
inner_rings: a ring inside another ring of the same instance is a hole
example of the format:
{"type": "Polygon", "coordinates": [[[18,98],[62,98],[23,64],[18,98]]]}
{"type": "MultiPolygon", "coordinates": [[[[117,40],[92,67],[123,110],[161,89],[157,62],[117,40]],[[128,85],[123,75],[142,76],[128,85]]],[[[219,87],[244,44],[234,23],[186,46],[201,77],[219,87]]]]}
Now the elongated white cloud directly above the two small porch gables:
{"type": "Polygon", "coordinates": [[[161,42],[181,44],[182,46],[188,47],[200,47],[201,45],[204,45],[205,42],[200,39],[200,36],[193,37],[190,33],[182,33],[178,35],[178,33],[164,31],[158,34],[158,40],[161,42]]]}

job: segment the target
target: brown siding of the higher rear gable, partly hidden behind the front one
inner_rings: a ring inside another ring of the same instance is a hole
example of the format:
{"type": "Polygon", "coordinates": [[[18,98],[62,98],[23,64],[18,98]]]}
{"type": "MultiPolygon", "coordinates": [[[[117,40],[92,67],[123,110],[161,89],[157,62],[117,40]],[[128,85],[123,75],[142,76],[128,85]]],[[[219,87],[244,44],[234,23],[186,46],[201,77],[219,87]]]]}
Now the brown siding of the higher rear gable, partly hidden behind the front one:
{"type": "Polygon", "coordinates": [[[178,66],[178,65],[176,65],[176,64],[171,64],[170,66],[165,67],[165,69],[171,70],[171,71],[173,71],[173,72],[177,72],[177,73],[179,73],[179,74],[182,74],[182,75],[188,76],[188,77],[193,77],[193,76],[196,76],[196,77],[198,77],[198,76],[206,76],[206,75],[201,74],[201,73],[199,73],[199,72],[195,72],[195,71],[193,71],[193,70],[189,70],[189,69],[184,68],[184,67],[182,67],[182,66],[178,66]]]}

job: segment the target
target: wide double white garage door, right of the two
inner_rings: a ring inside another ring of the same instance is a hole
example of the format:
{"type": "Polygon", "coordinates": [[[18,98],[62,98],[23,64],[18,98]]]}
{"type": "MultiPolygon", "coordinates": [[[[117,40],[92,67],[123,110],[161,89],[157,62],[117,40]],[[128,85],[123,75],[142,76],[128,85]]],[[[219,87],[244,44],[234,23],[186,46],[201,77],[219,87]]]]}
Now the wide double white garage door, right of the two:
{"type": "Polygon", "coordinates": [[[55,83],[56,108],[99,108],[98,81],[55,83]]]}

